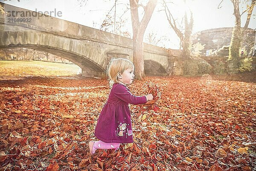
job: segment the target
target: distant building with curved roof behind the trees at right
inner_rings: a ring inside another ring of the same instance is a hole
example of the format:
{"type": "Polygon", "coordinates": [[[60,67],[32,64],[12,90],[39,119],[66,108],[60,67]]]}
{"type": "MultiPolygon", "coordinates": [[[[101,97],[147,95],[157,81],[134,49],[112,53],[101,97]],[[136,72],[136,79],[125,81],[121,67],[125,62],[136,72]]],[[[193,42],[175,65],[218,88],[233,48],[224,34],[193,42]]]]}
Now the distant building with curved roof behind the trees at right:
{"type": "MultiPolygon", "coordinates": [[[[241,28],[243,29],[243,28],[241,28]]],[[[196,32],[192,35],[192,43],[205,44],[200,55],[218,55],[228,56],[228,46],[232,36],[233,27],[223,27],[217,29],[208,29],[196,32]]],[[[241,51],[247,55],[252,55],[255,48],[255,30],[247,28],[244,30],[244,37],[241,51]]]]}

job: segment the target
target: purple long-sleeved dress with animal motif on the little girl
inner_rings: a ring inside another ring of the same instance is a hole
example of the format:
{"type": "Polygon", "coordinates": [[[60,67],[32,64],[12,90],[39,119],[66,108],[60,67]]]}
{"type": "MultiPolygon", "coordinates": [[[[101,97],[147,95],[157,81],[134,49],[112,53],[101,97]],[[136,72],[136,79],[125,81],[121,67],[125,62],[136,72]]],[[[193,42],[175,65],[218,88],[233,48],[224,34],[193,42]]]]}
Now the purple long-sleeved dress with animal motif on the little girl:
{"type": "Polygon", "coordinates": [[[134,96],[125,85],[114,83],[95,128],[94,135],[105,143],[133,142],[128,104],[146,103],[145,96],[134,96]]]}

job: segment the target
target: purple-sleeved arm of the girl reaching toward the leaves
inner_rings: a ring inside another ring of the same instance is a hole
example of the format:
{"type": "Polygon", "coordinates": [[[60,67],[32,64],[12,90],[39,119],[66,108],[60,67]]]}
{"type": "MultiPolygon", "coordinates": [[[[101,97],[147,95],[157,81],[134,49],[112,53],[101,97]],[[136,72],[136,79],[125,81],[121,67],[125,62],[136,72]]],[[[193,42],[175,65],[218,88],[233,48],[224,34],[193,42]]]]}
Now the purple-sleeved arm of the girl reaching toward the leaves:
{"type": "Polygon", "coordinates": [[[120,85],[116,86],[114,90],[114,95],[130,104],[143,104],[147,102],[146,96],[135,96],[132,95],[126,87],[120,85]]]}

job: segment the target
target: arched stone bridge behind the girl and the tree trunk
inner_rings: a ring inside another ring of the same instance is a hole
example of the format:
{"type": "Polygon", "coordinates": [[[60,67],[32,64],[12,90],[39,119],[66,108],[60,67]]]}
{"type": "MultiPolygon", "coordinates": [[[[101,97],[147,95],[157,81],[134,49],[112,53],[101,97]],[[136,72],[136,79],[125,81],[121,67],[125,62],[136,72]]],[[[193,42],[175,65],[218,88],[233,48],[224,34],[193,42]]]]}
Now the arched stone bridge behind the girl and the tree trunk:
{"type": "MultiPolygon", "coordinates": [[[[77,64],[83,75],[96,77],[105,76],[112,57],[133,61],[130,38],[1,4],[9,15],[0,14],[0,49],[23,47],[46,51],[77,64]],[[18,22],[18,18],[25,20],[18,22]]],[[[145,74],[169,75],[178,53],[144,43],[145,74]]]]}

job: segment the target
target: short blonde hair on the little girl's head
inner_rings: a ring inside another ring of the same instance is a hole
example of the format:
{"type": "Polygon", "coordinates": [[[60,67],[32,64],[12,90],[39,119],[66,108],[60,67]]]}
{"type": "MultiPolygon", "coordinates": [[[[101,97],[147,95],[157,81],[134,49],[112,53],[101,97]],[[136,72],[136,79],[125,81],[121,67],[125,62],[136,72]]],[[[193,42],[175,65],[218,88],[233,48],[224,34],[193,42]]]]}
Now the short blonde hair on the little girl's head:
{"type": "Polygon", "coordinates": [[[108,77],[110,79],[109,85],[112,87],[114,83],[118,83],[117,81],[117,73],[123,73],[125,70],[129,68],[134,68],[134,64],[125,58],[111,58],[108,67],[108,77]]]}

